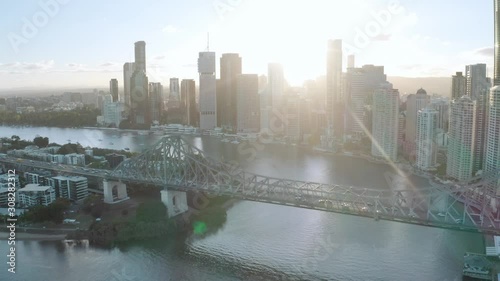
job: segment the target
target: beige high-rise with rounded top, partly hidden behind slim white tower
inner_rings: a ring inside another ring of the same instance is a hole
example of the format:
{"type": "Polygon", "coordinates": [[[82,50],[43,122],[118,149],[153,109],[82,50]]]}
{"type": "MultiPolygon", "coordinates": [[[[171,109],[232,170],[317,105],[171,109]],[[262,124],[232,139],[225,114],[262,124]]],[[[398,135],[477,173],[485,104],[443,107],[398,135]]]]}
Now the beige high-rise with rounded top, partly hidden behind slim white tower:
{"type": "Polygon", "coordinates": [[[405,141],[408,147],[413,150],[417,140],[417,114],[418,111],[429,105],[431,97],[420,88],[416,94],[411,94],[406,99],[406,126],[405,141]]]}

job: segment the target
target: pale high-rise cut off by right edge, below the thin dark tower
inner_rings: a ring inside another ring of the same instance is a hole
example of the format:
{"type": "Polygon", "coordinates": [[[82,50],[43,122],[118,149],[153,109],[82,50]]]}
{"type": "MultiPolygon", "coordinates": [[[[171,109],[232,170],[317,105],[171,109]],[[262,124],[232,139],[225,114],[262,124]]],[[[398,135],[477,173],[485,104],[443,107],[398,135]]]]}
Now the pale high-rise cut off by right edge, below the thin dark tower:
{"type": "MultiPolygon", "coordinates": [[[[493,173],[500,170],[500,86],[490,90],[487,128],[484,172],[493,173]]],[[[498,183],[489,186],[499,195],[498,187],[498,183]]]]}

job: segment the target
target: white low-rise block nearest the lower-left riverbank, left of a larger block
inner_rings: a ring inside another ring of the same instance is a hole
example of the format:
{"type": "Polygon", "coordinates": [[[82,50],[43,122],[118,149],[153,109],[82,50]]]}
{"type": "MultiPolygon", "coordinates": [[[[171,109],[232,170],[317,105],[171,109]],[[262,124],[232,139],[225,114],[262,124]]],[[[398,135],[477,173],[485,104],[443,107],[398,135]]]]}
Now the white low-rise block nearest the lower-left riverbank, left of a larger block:
{"type": "Polygon", "coordinates": [[[52,186],[40,186],[36,183],[27,184],[19,190],[19,203],[21,207],[47,206],[56,200],[52,186]]]}

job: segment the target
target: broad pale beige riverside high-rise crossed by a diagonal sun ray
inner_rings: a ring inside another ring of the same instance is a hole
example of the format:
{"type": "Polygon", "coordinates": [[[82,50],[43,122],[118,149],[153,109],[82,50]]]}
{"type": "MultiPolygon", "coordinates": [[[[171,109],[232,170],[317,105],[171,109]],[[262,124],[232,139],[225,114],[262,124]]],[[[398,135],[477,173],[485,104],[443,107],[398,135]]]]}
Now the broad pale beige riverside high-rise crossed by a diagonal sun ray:
{"type": "Polygon", "coordinates": [[[399,91],[385,83],[373,93],[372,149],[375,157],[397,161],[399,131],[399,91]]]}

